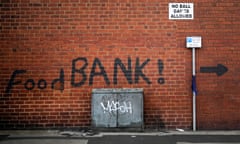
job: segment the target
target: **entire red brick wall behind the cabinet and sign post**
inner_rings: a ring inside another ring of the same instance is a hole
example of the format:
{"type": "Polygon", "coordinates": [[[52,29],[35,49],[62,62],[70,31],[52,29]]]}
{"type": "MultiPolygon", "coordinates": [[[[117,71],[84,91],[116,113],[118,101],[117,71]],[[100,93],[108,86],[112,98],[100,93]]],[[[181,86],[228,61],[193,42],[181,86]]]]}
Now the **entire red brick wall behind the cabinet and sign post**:
{"type": "Polygon", "coordinates": [[[194,20],[169,20],[169,2],[2,0],[0,128],[89,127],[93,88],[144,88],[146,128],[190,129],[199,35],[197,127],[239,129],[239,2],[194,0],[194,20]]]}

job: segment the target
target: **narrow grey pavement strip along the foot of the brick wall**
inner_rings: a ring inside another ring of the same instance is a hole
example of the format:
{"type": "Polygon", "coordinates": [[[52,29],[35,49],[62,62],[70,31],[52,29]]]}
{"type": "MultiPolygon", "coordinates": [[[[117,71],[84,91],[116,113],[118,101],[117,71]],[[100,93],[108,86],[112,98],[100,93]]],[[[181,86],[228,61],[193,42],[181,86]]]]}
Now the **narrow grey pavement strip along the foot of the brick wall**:
{"type": "Polygon", "coordinates": [[[102,137],[107,135],[139,135],[139,136],[166,136],[166,135],[239,135],[240,130],[233,131],[144,131],[144,132],[97,132],[97,131],[74,131],[74,130],[0,130],[1,135],[9,137],[102,137]]]}

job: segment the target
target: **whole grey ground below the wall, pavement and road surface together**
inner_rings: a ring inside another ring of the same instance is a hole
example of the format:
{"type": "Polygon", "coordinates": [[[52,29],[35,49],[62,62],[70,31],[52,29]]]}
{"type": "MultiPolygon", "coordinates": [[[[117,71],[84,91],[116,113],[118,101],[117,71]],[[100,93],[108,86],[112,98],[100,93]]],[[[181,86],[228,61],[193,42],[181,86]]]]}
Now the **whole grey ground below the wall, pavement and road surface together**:
{"type": "Polygon", "coordinates": [[[0,144],[240,144],[240,131],[0,131],[0,144]]]}

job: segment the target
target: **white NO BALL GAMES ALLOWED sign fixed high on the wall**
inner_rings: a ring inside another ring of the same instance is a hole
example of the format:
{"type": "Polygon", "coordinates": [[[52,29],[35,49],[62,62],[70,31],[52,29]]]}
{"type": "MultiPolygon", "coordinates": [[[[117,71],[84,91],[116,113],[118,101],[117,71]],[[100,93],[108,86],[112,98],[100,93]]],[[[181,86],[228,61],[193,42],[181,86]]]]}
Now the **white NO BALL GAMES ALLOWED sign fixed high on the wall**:
{"type": "Polygon", "coordinates": [[[193,3],[169,3],[168,6],[170,20],[192,20],[194,18],[193,3]]]}

